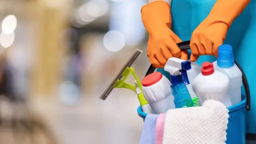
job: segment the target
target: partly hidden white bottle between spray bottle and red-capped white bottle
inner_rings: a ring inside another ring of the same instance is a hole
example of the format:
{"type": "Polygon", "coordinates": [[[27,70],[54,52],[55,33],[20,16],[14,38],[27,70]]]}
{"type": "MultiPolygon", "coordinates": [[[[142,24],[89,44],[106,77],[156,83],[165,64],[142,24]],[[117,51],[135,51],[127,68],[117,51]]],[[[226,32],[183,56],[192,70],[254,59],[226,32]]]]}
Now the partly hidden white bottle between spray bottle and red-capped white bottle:
{"type": "MultiPolygon", "coordinates": [[[[188,59],[190,59],[190,55],[191,55],[191,53],[188,53],[188,59]]],[[[188,61],[190,61],[190,60],[188,60],[188,61]]],[[[196,62],[191,62],[191,69],[187,70],[188,80],[189,80],[190,84],[188,84],[186,86],[187,86],[188,92],[190,94],[190,97],[192,99],[197,97],[192,89],[192,82],[194,81],[196,76],[199,75],[199,73],[201,73],[201,66],[199,64],[197,64],[196,62]]]]}

